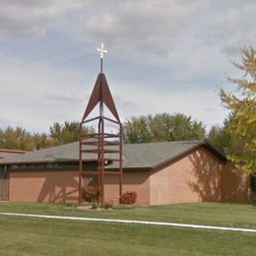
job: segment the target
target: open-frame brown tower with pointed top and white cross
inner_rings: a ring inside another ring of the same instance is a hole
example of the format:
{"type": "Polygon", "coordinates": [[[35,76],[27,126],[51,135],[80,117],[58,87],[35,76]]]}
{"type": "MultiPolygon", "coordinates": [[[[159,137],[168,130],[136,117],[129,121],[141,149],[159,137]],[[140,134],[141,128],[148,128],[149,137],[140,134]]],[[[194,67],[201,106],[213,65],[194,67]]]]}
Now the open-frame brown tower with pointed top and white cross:
{"type": "Polygon", "coordinates": [[[122,123],[117,113],[113,97],[103,69],[103,55],[107,51],[103,43],[96,49],[100,53],[100,73],[97,75],[95,88],[89,99],[86,111],[80,123],[79,139],[79,204],[83,200],[83,179],[87,175],[96,177],[96,186],[99,192],[99,203],[104,204],[105,175],[117,175],[119,182],[119,197],[122,194],[122,123]],[[92,112],[97,110],[95,116],[92,112]],[[106,116],[105,110],[110,116],[106,116]],[[84,133],[84,125],[96,123],[96,132],[84,133]],[[106,123],[114,127],[115,132],[106,132],[106,123]],[[86,160],[96,160],[96,170],[85,170],[86,160]],[[111,163],[114,168],[110,170],[107,166],[111,163]],[[114,169],[114,170],[113,170],[114,169]]]}

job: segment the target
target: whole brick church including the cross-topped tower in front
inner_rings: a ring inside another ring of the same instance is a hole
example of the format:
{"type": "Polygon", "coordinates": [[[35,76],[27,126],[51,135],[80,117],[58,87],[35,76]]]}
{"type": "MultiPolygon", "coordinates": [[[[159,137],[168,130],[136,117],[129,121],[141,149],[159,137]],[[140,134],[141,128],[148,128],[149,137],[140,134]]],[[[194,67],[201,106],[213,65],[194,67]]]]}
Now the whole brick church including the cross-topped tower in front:
{"type": "Polygon", "coordinates": [[[88,186],[99,189],[101,204],[117,204],[126,191],[137,192],[139,205],[252,200],[252,177],[233,172],[232,163],[207,141],[123,144],[122,124],[102,73],[103,44],[98,50],[100,73],[79,142],[0,158],[0,201],[82,203],[88,186]],[[91,116],[97,107],[99,114],[91,116]],[[96,132],[84,134],[91,122],[96,132]],[[107,132],[107,123],[116,131],[107,132]]]}

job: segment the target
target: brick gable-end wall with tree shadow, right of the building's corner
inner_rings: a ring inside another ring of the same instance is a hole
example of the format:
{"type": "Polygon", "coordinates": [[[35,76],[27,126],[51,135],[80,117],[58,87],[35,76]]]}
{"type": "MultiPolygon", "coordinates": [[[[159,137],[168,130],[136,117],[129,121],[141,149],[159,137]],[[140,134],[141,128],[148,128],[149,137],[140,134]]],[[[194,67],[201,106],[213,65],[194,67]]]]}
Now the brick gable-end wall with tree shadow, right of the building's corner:
{"type": "Polygon", "coordinates": [[[200,147],[158,171],[150,180],[151,205],[192,202],[249,202],[250,175],[200,147]]]}

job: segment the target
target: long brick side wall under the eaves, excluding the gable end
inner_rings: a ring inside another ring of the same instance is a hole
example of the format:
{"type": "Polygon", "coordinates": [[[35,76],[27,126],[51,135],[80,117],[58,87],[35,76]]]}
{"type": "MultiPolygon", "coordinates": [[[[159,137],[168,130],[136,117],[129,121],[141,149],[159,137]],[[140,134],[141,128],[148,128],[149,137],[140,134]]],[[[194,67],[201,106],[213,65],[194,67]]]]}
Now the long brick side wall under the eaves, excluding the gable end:
{"type": "MultiPolygon", "coordinates": [[[[123,192],[138,193],[138,204],[149,205],[149,171],[125,172],[123,192]]],[[[105,201],[118,203],[118,175],[105,175],[105,201]]],[[[17,171],[10,173],[10,201],[78,202],[78,170],[17,171]]]]}

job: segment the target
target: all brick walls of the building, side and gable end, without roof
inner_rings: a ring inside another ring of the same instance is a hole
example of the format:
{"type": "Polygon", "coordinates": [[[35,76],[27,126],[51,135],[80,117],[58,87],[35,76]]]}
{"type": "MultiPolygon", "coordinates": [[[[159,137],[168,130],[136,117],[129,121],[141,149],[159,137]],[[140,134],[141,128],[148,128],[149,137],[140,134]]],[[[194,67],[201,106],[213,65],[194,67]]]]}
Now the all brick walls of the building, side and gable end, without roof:
{"type": "MultiPolygon", "coordinates": [[[[204,147],[155,171],[124,171],[123,192],[140,205],[250,201],[250,176],[234,173],[204,147]]],[[[118,202],[118,175],[105,175],[105,201],[118,202]]],[[[10,173],[10,201],[78,202],[78,170],[10,173]]]]}

